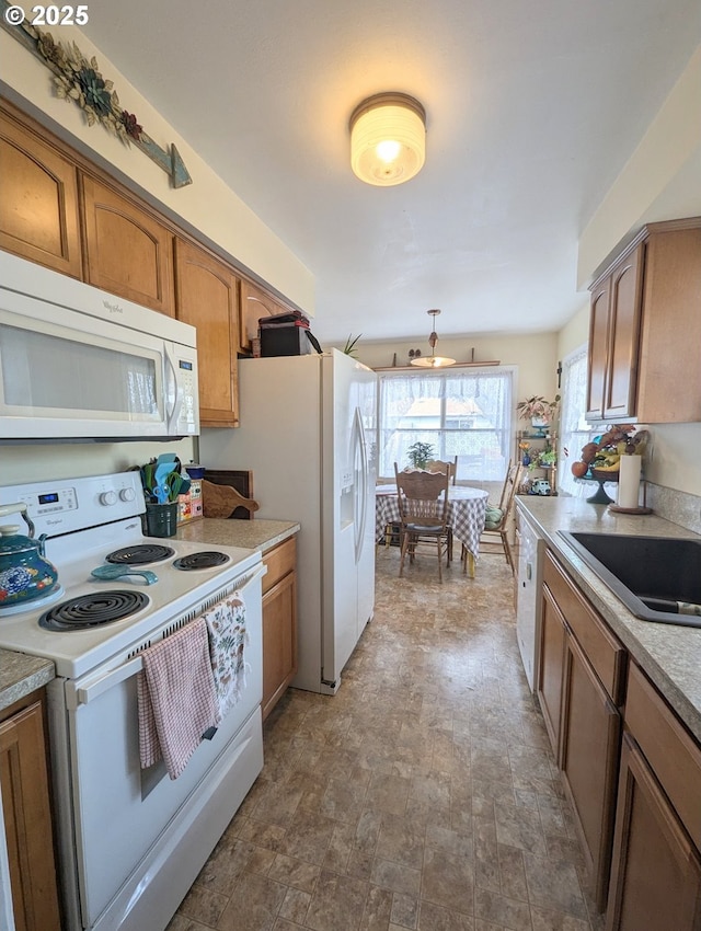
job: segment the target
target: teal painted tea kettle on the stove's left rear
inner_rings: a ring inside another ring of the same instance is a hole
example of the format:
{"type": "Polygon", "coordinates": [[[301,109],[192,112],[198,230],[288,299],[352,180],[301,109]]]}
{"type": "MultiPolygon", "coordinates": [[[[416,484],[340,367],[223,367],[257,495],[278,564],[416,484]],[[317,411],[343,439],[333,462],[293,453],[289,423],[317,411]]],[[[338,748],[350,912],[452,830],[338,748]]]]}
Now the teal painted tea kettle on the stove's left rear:
{"type": "Polygon", "coordinates": [[[34,525],[24,502],[0,505],[0,517],[22,514],[30,530],[24,537],[16,525],[0,527],[0,613],[3,608],[31,602],[58,585],[58,572],[45,555],[46,533],[34,539],[34,525]]]}

